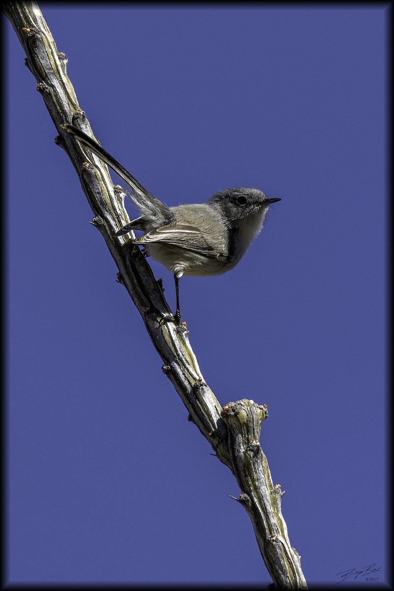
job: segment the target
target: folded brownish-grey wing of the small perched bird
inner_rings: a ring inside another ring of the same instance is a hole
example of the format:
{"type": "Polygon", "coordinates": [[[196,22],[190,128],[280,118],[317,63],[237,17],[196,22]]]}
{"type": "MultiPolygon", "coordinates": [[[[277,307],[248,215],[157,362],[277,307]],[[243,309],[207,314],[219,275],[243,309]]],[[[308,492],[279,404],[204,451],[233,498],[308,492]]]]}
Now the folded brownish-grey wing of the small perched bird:
{"type": "Polygon", "coordinates": [[[149,244],[152,242],[177,246],[177,248],[197,252],[197,254],[207,256],[208,258],[226,259],[226,255],[223,252],[207,242],[204,234],[198,228],[191,226],[187,222],[166,224],[133,240],[135,244],[149,244]]]}

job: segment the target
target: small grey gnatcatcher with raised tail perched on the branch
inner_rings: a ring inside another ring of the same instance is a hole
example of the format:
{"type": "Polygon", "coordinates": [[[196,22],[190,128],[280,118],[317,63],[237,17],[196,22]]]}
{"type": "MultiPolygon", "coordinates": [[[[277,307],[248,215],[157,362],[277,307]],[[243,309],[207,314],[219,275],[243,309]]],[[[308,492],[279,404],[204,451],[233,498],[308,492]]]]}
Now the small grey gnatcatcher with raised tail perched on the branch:
{"type": "Polygon", "coordinates": [[[131,230],[144,235],[132,240],[144,245],[145,252],[174,274],[179,324],[179,280],[182,275],[204,277],[222,275],[233,269],[263,227],[268,199],[258,189],[235,187],[214,194],[205,203],[167,207],[128,173],[115,158],[74,125],[62,125],[81,144],[86,145],[131,187],[131,199],[141,213],[123,226],[115,236],[131,230]]]}

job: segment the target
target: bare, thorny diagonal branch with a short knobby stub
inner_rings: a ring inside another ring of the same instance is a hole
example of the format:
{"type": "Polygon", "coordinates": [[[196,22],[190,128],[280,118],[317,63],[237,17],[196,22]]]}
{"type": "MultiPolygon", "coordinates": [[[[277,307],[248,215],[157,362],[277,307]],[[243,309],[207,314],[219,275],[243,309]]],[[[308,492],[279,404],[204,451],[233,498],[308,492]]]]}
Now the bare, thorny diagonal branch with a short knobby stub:
{"type": "MultiPolygon", "coordinates": [[[[282,589],[307,587],[299,556],[291,547],[281,512],[283,493],[273,486],[266,457],[259,443],[265,405],[252,400],[229,402],[224,408],[204,381],[188,340],[185,324],[171,322],[171,311],[162,286],[144,256],[129,238],[116,237],[128,223],[119,187],[113,187],[106,165],[94,158],[61,128],[73,123],[93,137],[80,109],[70,79],[67,58],[59,53],[38,5],[9,2],[3,8],[27,55],[27,66],[37,80],[37,90],[56,126],[56,142],[69,155],[82,189],[92,207],[92,223],[99,229],[118,266],[121,282],[144,320],[148,334],[163,360],[162,371],[178,392],[192,421],[209,441],[216,456],[234,473],[240,490],[236,499],[248,513],[256,540],[275,586],[282,589]],[[169,322],[163,322],[163,319],[169,322]]],[[[232,497],[233,499],[235,497],[232,497]]]]}

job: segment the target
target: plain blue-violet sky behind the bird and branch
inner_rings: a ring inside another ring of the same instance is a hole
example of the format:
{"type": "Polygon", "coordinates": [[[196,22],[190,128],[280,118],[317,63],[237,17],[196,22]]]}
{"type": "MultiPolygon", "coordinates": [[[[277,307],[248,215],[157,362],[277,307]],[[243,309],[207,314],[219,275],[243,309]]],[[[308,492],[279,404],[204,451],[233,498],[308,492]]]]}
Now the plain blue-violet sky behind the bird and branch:
{"type": "MultiPolygon", "coordinates": [[[[151,193],[281,197],[233,271],[181,280],[183,320],[220,403],[268,405],[307,582],[387,582],[388,8],[41,9],[96,137],[151,193]]],[[[9,580],[269,583],[5,29],[9,580]]]]}

